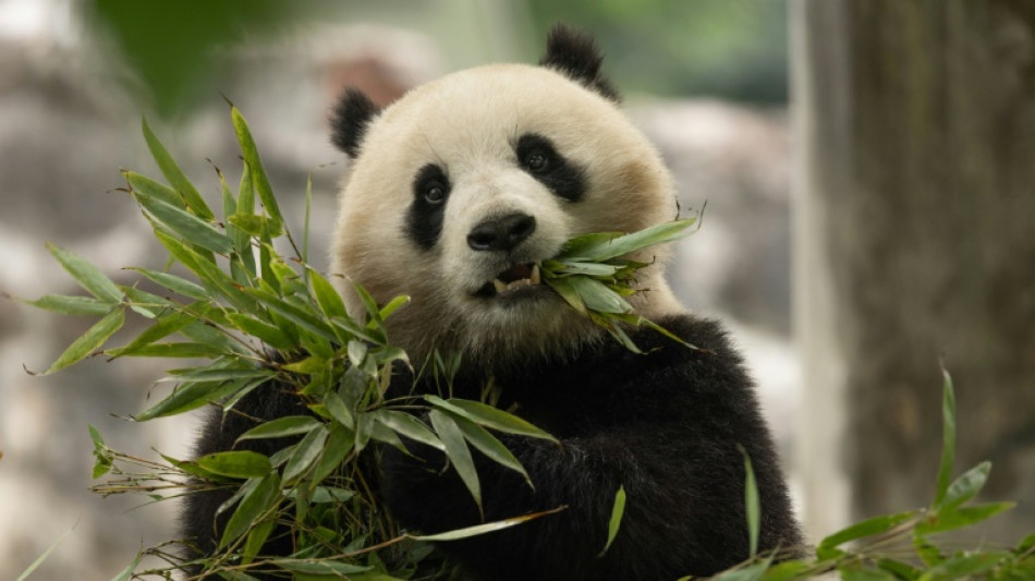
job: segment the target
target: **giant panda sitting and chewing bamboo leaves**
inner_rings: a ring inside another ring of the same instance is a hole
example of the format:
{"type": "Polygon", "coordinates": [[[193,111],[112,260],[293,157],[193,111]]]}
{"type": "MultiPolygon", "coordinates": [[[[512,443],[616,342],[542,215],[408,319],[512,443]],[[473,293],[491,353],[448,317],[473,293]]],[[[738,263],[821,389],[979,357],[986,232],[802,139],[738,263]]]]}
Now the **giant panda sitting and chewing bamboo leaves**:
{"type": "MultiPolygon", "coordinates": [[[[500,406],[560,440],[502,438],[534,487],[478,463],[479,513],[437,450],[382,450],[381,494],[412,531],[438,533],[564,510],[480,536],[440,543],[467,579],[674,580],[750,556],[744,460],[760,494],[760,550],[801,553],[787,487],[743,361],[715,320],[691,314],[663,278],[665,251],[636,256],[636,312],[697,349],[629,329],[636,354],[540,280],[538,264],[570,238],[631,232],[678,214],[672,178],[625,118],[588,36],[549,34],[538,65],[494,64],[419,86],[383,110],[349,89],[332,141],[350,158],[331,270],[350,311],[353,283],[379,302],[409,295],[388,320],[412,361],[460,355],[453,395],[492,383],[500,406]],[[616,492],[626,505],[600,556],[616,492]]],[[[407,373],[393,389],[435,392],[407,373]]],[[[282,392],[239,403],[269,419],[299,413],[282,392]]],[[[251,424],[214,415],[199,453],[232,446],[251,424]],[[236,423],[235,423],[236,422],[236,423]]],[[[483,459],[484,460],[484,459],[483,459]]],[[[211,547],[221,499],[191,499],[186,534],[211,547]]]]}

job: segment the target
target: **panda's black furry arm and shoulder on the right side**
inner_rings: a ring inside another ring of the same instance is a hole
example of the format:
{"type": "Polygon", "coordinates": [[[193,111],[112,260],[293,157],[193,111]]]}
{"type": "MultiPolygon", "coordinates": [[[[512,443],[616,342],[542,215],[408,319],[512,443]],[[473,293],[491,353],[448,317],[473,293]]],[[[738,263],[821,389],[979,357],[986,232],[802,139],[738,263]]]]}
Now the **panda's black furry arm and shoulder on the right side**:
{"type": "MultiPolygon", "coordinates": [[[[508,564],[526,578],[541,577],[548,567],[571,570],[572,578],[593,571],[601,579],[674,578],[729,567],[747,557],[738,445],[752,458],[763,496],[763,548],[800,542],[739,358],[714,324],[689,318],[662,324],[707,351],[657,342],[650,355],[605,351],[538,378],[539,407],[547,407],[551,417],[544,427],[561,445],[502,438],[534,491],[516,473],[480,459],[486,521],[568,508],[447,543],[448,552],[474,569],[498,573],[499,564],[508,564]],[[621,531],[605,558],[597,559],[620,485],[628,495],[621,531]],[[541,571],[526,570],[529,564],[541,571]]],[[[645,348],[654,347],[653,339],[636,338],[645,348]]],[[[416,456],[390,452],[385,458],[386,499],[395,517],[425,532],[477,523],[470,493],[446,469],[443,456],[427,447],[416,456]]]]}

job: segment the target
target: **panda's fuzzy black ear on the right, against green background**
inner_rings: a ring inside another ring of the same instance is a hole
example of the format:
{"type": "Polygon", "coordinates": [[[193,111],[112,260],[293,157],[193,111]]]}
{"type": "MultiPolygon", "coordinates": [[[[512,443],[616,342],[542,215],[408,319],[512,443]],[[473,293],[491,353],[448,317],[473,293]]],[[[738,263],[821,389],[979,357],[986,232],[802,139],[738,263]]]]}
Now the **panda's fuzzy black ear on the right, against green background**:
{"type": "Polygon", "coordinates": [[[546,55],[539,64],[555,69],[573,81],[614,102],[622,100],[611,82],[600,73],[604,55],[588,34],[581,33],[564,24],[555,24],[546,38],[546,55]]]}

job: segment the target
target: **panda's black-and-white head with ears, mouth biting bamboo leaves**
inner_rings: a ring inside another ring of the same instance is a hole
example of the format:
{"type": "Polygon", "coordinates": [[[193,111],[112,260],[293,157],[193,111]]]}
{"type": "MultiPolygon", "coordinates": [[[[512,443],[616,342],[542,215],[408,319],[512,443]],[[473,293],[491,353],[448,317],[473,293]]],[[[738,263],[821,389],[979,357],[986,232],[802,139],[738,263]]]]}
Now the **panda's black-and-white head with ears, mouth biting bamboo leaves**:
{"type": "MultiPolygon", "coordinates": [[[[657,152],[618,108],[590,38],[564,27],[539,65],[468,69],[378,110],[342,95],[333,142],[352,159],[340,198],[332,269],[383,303],[393,344],[497,364],[557,356],[600,329],[540,283],[538,263],[570,238],[631,232],[674,218],[657,152]]],[[[677,310],[658,249],[636,256],[645,316],[677,310]]]]}

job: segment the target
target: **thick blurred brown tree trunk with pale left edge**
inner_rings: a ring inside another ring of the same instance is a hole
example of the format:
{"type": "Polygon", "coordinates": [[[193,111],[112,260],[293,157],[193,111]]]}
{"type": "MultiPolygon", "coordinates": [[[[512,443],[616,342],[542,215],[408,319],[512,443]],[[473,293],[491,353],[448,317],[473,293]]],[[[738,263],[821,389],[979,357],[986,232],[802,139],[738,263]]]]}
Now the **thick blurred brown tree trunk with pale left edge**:
{"type": "Polygon", "coordinates": [[[1035,530],[1035,2],[800,0],[792,19],[811,529],[930,503],[943,359],[957,473],[991,460],[983,497],[1021,505],[987,540],[1016,542],[1035,530]]]}

